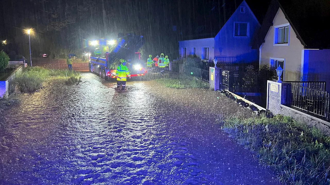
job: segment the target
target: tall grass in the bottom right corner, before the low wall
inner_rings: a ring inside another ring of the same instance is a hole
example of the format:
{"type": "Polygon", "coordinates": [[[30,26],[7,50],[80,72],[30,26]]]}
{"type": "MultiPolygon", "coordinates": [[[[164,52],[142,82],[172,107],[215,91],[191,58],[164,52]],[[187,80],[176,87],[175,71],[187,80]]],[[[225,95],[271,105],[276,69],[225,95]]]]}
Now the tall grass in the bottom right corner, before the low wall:
{"type": "Polygon", "coordinates": [[[276,170],[286,184],[329,184],[330,137],[318,128],[282,115],[218,120],[230,137],[276,170]]]}

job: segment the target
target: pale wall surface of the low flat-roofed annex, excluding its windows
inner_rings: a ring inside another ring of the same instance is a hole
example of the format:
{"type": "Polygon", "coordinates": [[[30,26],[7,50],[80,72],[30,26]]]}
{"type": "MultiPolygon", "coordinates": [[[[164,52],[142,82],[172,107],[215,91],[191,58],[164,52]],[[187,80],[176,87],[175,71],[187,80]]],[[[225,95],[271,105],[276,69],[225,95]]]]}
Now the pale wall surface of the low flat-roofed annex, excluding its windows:
{"type": "Polygon", "coordinates": [[[209,48],[209,59],[214,59],[214,38],[179,41],[179,53],[182,57],[182,47],[186,47],[187,56],[191,55],[192,47],[196,47],[196,56],[202,58],[202,47],[209,48]]]}

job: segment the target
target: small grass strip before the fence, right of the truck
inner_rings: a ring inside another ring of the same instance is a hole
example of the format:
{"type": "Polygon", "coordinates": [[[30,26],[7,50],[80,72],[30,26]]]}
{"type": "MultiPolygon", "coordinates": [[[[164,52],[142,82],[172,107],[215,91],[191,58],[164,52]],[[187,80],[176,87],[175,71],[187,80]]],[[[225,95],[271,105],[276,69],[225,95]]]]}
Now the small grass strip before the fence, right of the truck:
{"type": "Polygon", "coordinates": [[[186,88],[209,88],[209,84],[201,82],[200,79],[189,79],[180,77],[179,79],[172,78],[160,78],[156,79],[156,82],[165,85],[165,87],[175,88],[175,89],[186,89],[186,88]]]}

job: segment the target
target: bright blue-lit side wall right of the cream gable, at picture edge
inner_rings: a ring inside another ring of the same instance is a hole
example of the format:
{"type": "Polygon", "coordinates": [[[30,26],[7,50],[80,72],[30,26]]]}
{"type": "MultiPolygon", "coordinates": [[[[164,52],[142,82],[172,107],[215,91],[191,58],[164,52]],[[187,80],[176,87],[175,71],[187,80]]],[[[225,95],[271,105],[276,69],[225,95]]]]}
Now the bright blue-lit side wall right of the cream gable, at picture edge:
{"type": "Polygon", "coordinates": [[[301,80],[325,81],[330,92],[330,49],[302,50],[301,80]]]}

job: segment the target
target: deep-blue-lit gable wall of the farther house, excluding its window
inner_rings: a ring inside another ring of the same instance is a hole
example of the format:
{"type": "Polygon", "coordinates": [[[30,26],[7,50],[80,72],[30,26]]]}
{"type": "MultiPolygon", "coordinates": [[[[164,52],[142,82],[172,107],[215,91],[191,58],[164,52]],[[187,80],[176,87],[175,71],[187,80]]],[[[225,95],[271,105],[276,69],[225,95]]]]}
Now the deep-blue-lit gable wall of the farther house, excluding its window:
{"type": "Polygon", "coordinates": [[[215,36],[215,57],[218,61],[225,57],[235,57],[239,62],[258,63],[259,49],[251,49],[250,43],[254,31],[258,30],[259,27],[258,20],[246,2],[243,1],[215,36]],[[241,6],[245,7],[245,13],[241,13],[241,6]],[[234,36],[235,22],[247,22],[249,24],[248,37],[234,36]]]}

